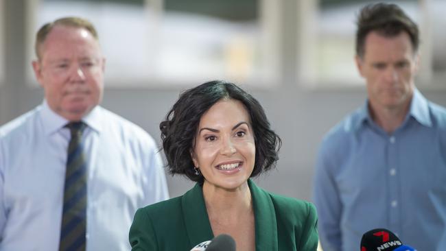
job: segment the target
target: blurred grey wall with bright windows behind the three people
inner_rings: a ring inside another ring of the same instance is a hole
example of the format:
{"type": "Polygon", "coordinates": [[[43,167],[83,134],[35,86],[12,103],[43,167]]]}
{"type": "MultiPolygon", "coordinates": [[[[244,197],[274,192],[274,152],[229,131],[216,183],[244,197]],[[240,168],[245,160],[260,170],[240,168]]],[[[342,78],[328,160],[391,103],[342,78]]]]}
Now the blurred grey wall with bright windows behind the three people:
{"type": "MultiPolygon", "coordinates": [[[[322,136],[366,99],[353,64],[355,14],[370,1],[0,0],[0,125],[34,108],[34,34],[60,16],[91,19],[107,58],[102,105],[159,140],[178,94],[214,78],[242,84],[283,140],[277,169],[257,178],[270,191],[311,200],[322,136]]],[[[397,1],[420,24],[416,81],[446,106],[445,1],[397,1]]],[[[193,184],[168,176],[172,197],[193,184]]]]}

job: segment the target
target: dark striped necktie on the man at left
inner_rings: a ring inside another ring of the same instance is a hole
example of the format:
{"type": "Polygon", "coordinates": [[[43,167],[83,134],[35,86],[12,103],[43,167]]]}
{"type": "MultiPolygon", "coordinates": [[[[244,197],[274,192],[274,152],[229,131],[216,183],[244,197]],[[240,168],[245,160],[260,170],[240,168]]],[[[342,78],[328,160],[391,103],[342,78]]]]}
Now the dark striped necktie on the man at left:
{"type": "Polygon", "coordinates": [[[59,250],[85,250],[87,169],[82,152],[82,132],[86,125],[83,122],[71,122],[65,127],[71,132],[71,140],[65,171],[59,250]]]}

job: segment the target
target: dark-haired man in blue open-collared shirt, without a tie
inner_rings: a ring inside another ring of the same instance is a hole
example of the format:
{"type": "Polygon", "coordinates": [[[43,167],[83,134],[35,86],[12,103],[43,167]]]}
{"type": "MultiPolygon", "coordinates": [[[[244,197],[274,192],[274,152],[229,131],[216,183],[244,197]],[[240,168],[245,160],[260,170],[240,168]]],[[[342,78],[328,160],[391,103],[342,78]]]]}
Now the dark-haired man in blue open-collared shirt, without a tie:
{"type": "Polygon", "coordinates": [[[361,10],[355,60],[368,99],[325,136],[316,163],[325,251],[359,250],[373,228],[446,250],[446,110],[414,86],[418,51],[418,27],[397,5],[361,10]]]}

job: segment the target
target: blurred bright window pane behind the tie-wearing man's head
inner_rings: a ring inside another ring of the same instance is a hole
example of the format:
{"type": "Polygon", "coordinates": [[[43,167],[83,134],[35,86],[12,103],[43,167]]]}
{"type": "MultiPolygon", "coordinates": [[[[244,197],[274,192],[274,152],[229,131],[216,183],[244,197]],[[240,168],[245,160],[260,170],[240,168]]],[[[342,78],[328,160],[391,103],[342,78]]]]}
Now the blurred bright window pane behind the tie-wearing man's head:
{"type": "MultiPolygon", "coordinates": [[[[148,38],[145,28],[144,1],[29,1],[29,31],[27,39],[29,60],[34,59],[34,42],[37,30],[45,23],[62,16],[81,16],[91,21],[98,32],[99,43],[106,56],[106,82],[123,84],[139,82],[145,77],[141,67],[148,65],[148,38]],[[130,80],[130,81],[129,81],[130,80]]],[[[30,80],[34,80],[32,69],[30,80]]]]}

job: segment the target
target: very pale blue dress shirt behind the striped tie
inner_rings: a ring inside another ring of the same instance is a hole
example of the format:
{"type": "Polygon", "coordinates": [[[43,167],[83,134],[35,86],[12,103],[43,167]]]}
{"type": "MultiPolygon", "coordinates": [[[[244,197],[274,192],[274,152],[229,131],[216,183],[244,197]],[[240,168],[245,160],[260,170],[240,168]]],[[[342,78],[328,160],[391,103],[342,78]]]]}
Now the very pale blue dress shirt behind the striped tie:
{"type": "MultiPolygon", "coordinates": [[[[83,121],[88,167],[86,250],[130,250],[137,208],[166,200],[156,143],[95,107],[83,121]]],[[[0,250],[58,250],[68,121],[43,105],[0,128],[0,250]]]]}

